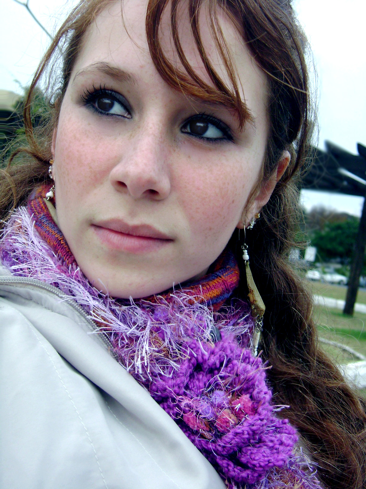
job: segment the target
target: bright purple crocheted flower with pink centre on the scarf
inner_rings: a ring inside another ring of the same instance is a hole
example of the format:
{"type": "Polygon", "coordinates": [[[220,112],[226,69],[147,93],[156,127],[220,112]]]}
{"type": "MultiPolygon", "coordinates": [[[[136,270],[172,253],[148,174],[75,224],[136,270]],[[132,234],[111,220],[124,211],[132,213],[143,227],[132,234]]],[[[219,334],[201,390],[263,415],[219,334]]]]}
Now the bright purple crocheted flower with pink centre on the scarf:
{"type": "Polygon", "coordinates": [[[284,467],[297,436],[274,416],[262,360],[233,337],[205,345],[189,338],[184,350],[174,376],[151,382],[153,398],[224,478],[254,484],[284,467]]]}

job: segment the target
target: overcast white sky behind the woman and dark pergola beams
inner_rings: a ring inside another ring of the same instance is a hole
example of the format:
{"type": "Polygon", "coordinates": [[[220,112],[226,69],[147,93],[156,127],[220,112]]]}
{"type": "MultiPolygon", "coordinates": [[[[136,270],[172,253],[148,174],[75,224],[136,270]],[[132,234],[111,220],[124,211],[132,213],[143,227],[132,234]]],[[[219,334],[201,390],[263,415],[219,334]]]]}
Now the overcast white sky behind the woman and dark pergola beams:
{"type": "MultiPolygon", "coordinates": [[[[52,33],[75,0],[29,0],[29,6],[52,33]]],[[[365,0],[294,0],[310,40],[318,72],[319,147],[326,139],[351,153],[366,145],[365,0]]],[[[0,0],[0,89],[21,92],[35,71],[49,38],[26,9],[0,0]],[[18,82],[16,81],[18,80],[18,82]]],[[[363,199],[303,191],[307,209],[323,204],[360,215],[363,199]]]]}

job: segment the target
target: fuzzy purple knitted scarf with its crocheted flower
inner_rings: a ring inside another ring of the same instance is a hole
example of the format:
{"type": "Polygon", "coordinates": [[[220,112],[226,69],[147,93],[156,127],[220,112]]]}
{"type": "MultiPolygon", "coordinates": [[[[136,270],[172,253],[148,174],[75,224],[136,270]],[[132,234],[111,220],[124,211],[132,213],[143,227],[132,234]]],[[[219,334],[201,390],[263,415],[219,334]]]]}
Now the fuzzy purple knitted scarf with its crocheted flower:
{"type": "MultiPolygon", "coordinates": [[[[228,488],[321,487],[314,468],[295,447],[295,429],[276,416],[284,406],[270,403],[265,382],[269,367],[250,351],[253,320],[246,303],[226,301],[214,311],[204,296],[192,300],[197,283],[149,300],[112,299],[40,236],[36,228],[45,229],[42,222],[50,219],[17,209],[0,240],[3,266],[14,275],[57,287],[64,300],[80,304],[98,325],[96,333],[108,333],[119,362],[175,420],[228,488]]],[[[228,252],[221,257],[223,275],[232,260],[228,252]]],[[[217,281],[220,273],[214,273],[217,281]]],[[[209,276],[203,279],[206,285],[209,281],[209,276]]]]}

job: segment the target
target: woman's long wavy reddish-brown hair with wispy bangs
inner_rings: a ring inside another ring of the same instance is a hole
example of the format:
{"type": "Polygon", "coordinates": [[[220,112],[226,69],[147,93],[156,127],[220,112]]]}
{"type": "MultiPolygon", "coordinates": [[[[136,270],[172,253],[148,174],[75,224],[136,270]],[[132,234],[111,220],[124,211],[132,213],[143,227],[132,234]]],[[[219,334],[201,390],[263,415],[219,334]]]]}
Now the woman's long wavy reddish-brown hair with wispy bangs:
{"type": "MultiPolygon", "coordinates": [[[[61,25],[34,76],[24,104],[26,148],[13,153],[0,178],[0,218],[5,221],[23,204],[33,188],[47,181],[53,129],[57,126],[62,99],[87,27],[113,0],[81,0],[61,25]],[[43,124],[32,127],[32,97],[46,79],[49,114],[43,124]]],[[[347,385],[337,367],[317,346],[311,296],[289,266],[298,216],[297,183],[308,165],[310,99],[305,63],[306,39],[290,0],[205,0],[210,27],[228,74],[225,85],[206,55],[200,35],[202,0],[187,0],[192,34],[212,82],[208,85],[189,65],[180,43],[177,11],[180,0],[149,0],[145,27],[153,63],[173,89],[224,103],[236,111],[242,127],[246,108],[241,100],[236,68],[220,28],[218,11],[224,9],[235,22],[254,61],[268,83],[270,133],[261,181],[268,178],[285,150],[291,162],[277,183],[261,218],[246,233],[254,280],[266,305],[261,336],[263,357],[272,368],[268,379],[278,404],[289,405],[283,416],[296,426],[318,473],[328,488],[361,489],[366,486],[365,404],[347,385]],[[220,9],[218,10],[218,7],[220,9]],[[171,33],[183,69],[177,70],[160,44],[163,12],[170,8],[171,33]]],[[[230,246],[240,257],[237,230],[230,246]]],[[[241,277],[245,278],[244,268],[241,277]]],[[[246,281],[238,295],[245,298],[246,281]]]]}

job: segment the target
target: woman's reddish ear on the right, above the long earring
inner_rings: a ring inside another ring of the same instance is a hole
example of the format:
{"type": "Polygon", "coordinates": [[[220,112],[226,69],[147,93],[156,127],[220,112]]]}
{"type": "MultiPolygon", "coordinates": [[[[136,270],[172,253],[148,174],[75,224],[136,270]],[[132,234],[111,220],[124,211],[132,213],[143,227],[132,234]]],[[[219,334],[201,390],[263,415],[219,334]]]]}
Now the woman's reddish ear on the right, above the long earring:
{"type": "Polygon", "coordinates": [[[250,204],[248,209],[246,209],[244,218],[242,221],[238,222],[237,228],[243,229],[249,222],[253,219],[255,214],[261,211],[262,207],[268,202],[272,195],[272,192],[276,186],[276,183],[285,173],[286,168],[290,162],[291,156],[288,151],[284,151],[282,158],[279,161],[277,167],[273,171],[272,175],[265,181],[261,183],[258,194],[254,198],[253,202],[250,204]]]}

